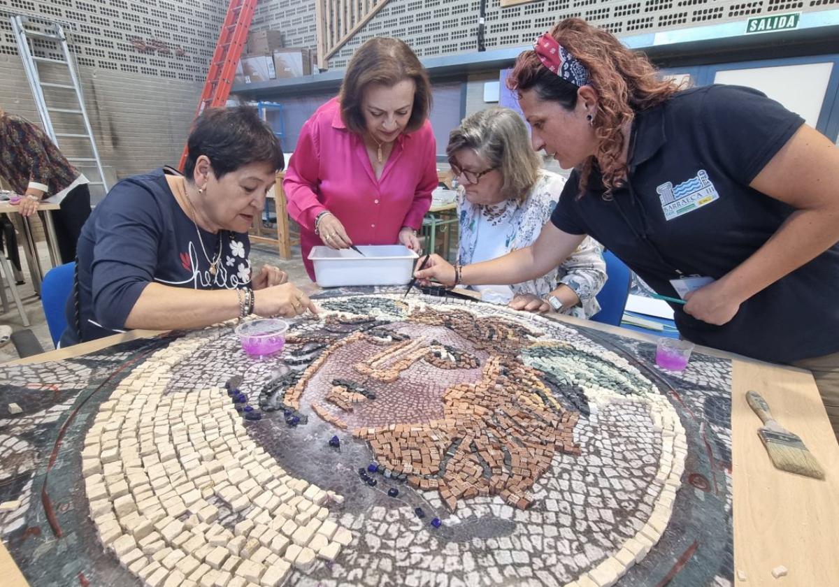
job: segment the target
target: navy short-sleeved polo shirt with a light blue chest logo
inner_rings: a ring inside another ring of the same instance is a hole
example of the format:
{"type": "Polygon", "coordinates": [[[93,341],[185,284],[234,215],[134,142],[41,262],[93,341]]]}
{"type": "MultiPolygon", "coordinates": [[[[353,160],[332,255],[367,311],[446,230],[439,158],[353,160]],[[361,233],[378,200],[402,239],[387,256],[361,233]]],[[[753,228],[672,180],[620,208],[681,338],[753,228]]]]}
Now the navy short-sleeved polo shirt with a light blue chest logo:
{"type": "MultiPolygon", "coordinates": [[[[574,172],[551,221],[611,249],[659,294],[670,279],[714,279],[745,261],[794,211],[748,186],[804,123],[739,86],[681,91],[633,122],[628,184],[603,200],[597,171],[577,198],[574,172]]],[[[671,304],[686,339],[791,362],[839,351],[839,246],[831,247],[710,325],[671,304]]]]}

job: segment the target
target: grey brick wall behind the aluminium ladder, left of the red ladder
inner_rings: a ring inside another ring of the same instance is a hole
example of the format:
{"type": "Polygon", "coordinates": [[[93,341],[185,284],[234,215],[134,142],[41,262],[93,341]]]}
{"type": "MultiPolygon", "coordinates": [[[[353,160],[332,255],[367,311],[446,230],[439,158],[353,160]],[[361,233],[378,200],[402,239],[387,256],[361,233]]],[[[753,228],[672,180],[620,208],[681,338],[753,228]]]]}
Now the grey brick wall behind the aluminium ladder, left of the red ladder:
{"type": "MultiPolygon", "coordinates": [[[[79,65],[86,109],[111,183],[177,164],[226,12],[221,0],[0,0],[0,104],[40,122],[8,13],[57,20],[79,65]]],[[[30,28],[37,29],[38,21],[32,22],[30,28]]],[[[35,41],[34,53],[60,56],[50,41],[35,41]]],[[[44,81],[61,70],[39,67],[44,81]]],[[[47,98],[57,107],[68,107],[62,101],[70,99],[55,93],[47,98]]],[[[56,131],[68,132],[78,122],[70,117],[55,114],[56,131]]],[[[60,147],[81,155],[67,141],[60,147]]]]}

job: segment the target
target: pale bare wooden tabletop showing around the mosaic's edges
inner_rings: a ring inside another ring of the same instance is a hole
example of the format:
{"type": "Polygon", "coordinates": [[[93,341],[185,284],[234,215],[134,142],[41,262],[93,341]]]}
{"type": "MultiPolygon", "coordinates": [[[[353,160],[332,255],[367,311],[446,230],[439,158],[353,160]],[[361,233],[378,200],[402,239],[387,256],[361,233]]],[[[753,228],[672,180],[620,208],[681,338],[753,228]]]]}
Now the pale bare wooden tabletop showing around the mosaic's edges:
{"type": "MultiPolygon", "coordinates": [[[[654,341],[644,333],[602,325],[571,316],[555,319],[571,325],[654,341]]],[[[66,359],[99,351],[126,340],[155,335],[133,331],[67,349],[46,352],[11,364],[66,359]]],[[[827,421],[810,372],[770,365],[732,353],[697,346],[696,352],[732,361],[732,475],[734,482],[734,584],[828,587],[837,584],[839,557],[839,444],[827,421]],[[758,438],[758,417],[746,403],[746,392],[763,394],[785,428],[799,434],[827,472],[816,481],[776,470],[758,438]],[[783,579],[771,571],[789,569],[783,579]],[[746,574],[737,579],[737,571],[746,574]]],[[[26,585],[0,543],[0,577],[7,587],[26,585]]]]}

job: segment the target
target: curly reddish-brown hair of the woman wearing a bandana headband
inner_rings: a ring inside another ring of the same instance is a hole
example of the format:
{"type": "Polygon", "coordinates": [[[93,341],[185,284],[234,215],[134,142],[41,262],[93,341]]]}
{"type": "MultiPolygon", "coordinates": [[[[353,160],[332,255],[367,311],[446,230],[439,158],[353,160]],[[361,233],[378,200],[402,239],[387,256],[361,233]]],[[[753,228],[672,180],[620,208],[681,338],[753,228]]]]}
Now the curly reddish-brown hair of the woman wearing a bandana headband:
{"type": "MultiPolygon", "coordinates": [[[[581,18],[565,18],[550,35],[586,66],[588,85],[597,91],[597,113],[592,121],[597,150],[579,169],[578,197],[586,193],[592,165],[597,163],[606,187],[603,197],[609,199],[628,171],[622,128],[633,121],[635,112],[667,101],[681,86],[660,80],[646,55],[627,49],[613,34],[581,18]]],[[[548,70],[533,50],[519,55],[507,86],[519,94],[533,89],[539,99],[558,101],[567,110],[576,106],[577,86],[548,70]]]]}

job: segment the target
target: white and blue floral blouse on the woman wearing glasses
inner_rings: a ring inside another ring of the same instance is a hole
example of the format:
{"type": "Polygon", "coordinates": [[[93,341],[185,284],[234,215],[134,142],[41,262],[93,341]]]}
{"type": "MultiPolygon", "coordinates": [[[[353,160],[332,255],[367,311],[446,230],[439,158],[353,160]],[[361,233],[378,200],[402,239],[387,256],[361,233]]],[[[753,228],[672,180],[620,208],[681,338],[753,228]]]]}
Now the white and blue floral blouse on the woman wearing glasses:
{"type": "MultiPolygon", "coordinates": [[[[550,213],[560,200],[564,185],[564,177],[542,169],[539,171],[539,179],[523,203],[505,200],[495,205],[471,204],[466,200],[463,188],[458,188],[458,262],[463,265],[472,262],[480,221],[488,221],[492,226],[508,227],[507,237],[504,239],[505,252],[533,244],[542,226],[550,221],[550,213]]],[[[589,318],[600,311],[600,304],[597,304],[595,296],[603,287],[603,283],[606,283],[606,263],[603,261],[602,248],[591,236],[586,236],[586,240],[581,242],[574,254],[555,270],[531,281],[515,283],[511,288],[514,294],[534,294],[545,299],[560,283],[565,283],[580,298],[580,305],[566,310],[566,314],[589,318]]]]}

